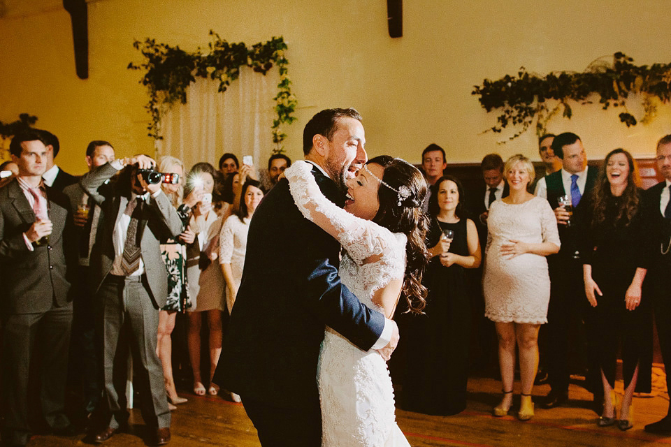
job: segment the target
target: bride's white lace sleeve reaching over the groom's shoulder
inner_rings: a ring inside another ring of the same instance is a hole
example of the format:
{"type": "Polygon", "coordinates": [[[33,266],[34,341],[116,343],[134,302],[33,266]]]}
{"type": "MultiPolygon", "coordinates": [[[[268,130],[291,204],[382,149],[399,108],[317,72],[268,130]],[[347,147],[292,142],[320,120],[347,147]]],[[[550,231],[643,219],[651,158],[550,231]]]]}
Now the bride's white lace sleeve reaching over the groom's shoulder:
{"type": "Polygon", "coordinates": [[[373,255],[382,254],[391,240],[389,230],[376,223],[359,219],[327,199],[311,173],[312,165],[307,161],[296,161],[284,171],[289,180],[291,197],[306,219],[314,222],[340,242],[356,263],[373,255]]]}

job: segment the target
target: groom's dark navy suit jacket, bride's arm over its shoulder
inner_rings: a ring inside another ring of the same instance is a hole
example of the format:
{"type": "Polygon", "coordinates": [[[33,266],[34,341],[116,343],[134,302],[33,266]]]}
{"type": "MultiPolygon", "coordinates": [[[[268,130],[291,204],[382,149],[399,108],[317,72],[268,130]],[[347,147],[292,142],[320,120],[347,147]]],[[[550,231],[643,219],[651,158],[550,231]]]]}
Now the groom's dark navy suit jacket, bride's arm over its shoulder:
{"type": "MultiPolygon", "coordinates": [[[[317,168],[312,173],[324,195],[342,206],[345,198],[335,183],[317,168]]],[[[319,405],[317,362],[324,325],[364,351],[384,328],[384,316],[340,283],[339,253],[338,241],[298,211],[287,179],[270,190],[250,223],[217,383],[243,400],[319,405]]]]}

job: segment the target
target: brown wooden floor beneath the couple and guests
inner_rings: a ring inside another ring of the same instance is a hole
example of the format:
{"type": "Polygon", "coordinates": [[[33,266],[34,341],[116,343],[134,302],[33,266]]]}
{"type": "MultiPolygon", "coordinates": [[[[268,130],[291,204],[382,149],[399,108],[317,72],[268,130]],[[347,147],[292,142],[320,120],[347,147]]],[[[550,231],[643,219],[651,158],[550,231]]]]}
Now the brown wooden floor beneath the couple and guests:
{"type": "MultiPolygon", "coordinates": [[[[663,380],[662,380],[663,381],[663,380]]],[[[659,380],[657,381],[659,382],[659,380]]],[[[516,384],[517,385],[517,384],[516,384]]],[[[557,409],[536,409],[535,417],[519,422],[514,416],[494,418],[491,407],[498,403],[500,383],[493,379],[469,381],[468,409],[457,416],[426,416],[408,411],[396,411],[401,430],[412,446],[671,446],[671,437],[647,434],[643,426],[664,416],[668,408],[663,383],[658,383],[654,397],[637,397],[634,402],[635,426],[628,432],[615,427],[596,426],[597,414],[587,408],[589,394],[571,385],[570,404],[557,409]]],[[[621,391],[621,383],[619,383],[621,391]]],[[[547,393],[549,386],[535,386],[534,395],[547,393]]],[[[517,393],[517,390],[516,390],[517,393]]],[[[241,404],[221,397],[195,397],[182,393],[189,402],[173,411],[171,427],[174,447],[195,446],[259,446],[256,431],[241,404]]],[[[538,400],[538,398],[535,398],[538,400]]],[[[516,397],[511,415],[517,411],[516,397]]],[[[109,447],[144,446],[140,436],[143,425],[137,411],[132,433],[122,433],[103,444],[109,447]]],[[[84,446],[82,436],[63,438],[36,436],[29,446],[84,446]]]]}

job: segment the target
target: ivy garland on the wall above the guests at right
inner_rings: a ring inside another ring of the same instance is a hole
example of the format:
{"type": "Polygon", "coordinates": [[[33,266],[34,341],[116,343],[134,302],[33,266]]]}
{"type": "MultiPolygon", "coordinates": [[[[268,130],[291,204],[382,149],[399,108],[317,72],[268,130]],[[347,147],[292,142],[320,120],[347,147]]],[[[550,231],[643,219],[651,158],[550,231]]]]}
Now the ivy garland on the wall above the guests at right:
{"type": "Polygon", "coordinates": [[[549,120],[561,110],[563,116],[570,119],[572,109],[569,100],[589,104],[592,103],[589,100],[592,94],[600,96],[603,110],[611,106],[623,108],[619,118],[629,127],[637,122],[651,122],[657,114],[658,103],[669,102],[671,64],[637,66],[632,58],[616,52],[612,64],[599,58],[582,73],[562,71],[540,76],[521,67],[517,77],[505,75],[495,81],[485,79],[482,85],[474,86],[471,94],[479,95],[480,104],[487,112],[502,110],[497,124],[486,132],[500,133],[509,125],[521,125],[521,130],[509,140],[519,137],[534,120],[537,135],[544,134],[549,120]],[[626,98],[630,94],[639,94],[642,98],[644,115],[638,120],[626,107],[626,98]],[[549,108],[550,99],[558,101],[553,108],[549,108]]]}

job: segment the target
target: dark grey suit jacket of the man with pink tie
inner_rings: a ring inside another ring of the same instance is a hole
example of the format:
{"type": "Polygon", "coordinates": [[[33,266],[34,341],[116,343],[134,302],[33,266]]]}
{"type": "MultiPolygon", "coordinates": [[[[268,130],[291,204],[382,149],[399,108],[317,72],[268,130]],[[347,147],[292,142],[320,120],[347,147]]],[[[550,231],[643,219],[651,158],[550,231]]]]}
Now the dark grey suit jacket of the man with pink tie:
{"type": "MultiPolygon", "coordinates": [[[[47,312],[53,305],[68,304],[70,283],[66,279],[66,221],[68,198],[45,186],[53,230],[48,244],[30,251],[23,238],[35,221],[28,199],[16,179],[0,188],[0,271],[2,312],[7,315],[47,312]]],[[[68,256],[70,258],[70,256],[68,256]]]]}

